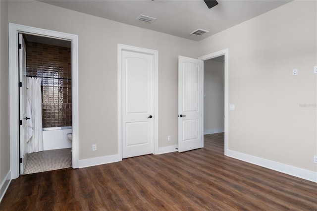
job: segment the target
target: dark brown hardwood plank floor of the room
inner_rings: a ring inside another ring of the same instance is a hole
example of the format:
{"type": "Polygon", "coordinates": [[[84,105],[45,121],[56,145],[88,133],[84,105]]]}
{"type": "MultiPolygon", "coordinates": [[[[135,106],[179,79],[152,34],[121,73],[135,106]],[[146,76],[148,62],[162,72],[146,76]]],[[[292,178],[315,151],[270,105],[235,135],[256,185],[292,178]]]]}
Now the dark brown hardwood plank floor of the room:
{"type": "Polygon", "coordinates": [[[21,176],[1,211],[317,211],[317,183],[225,157],[223,142],[206,135],[185,153],[21,176]]]}

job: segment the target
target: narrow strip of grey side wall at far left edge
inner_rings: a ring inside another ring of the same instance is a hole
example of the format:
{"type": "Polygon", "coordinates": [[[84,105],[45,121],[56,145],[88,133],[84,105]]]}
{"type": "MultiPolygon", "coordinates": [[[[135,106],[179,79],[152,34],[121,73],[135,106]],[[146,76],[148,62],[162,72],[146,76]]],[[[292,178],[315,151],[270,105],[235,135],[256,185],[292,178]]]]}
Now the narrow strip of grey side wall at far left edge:
{"type": "Polygon", "coordinates": [[[0,0],[0,184],[10,170],[7,5],[0,0]]]}

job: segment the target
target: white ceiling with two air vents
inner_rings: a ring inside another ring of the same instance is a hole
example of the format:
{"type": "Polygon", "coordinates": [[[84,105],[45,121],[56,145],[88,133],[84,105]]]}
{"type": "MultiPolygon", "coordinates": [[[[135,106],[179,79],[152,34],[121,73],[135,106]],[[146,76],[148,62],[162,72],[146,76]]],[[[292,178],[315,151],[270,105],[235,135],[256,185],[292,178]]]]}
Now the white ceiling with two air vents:
{"type": "Polygon", "coordinates": [[[290,0],[218,0],[209,9],[204,0],[40,0],[55,6],[95,15],[189,40],[200,41],[290,0]],[[139,15],[157,18],[153,23],[139,15]],[[209,31],[201,36],[197,29],[209,31]]]}

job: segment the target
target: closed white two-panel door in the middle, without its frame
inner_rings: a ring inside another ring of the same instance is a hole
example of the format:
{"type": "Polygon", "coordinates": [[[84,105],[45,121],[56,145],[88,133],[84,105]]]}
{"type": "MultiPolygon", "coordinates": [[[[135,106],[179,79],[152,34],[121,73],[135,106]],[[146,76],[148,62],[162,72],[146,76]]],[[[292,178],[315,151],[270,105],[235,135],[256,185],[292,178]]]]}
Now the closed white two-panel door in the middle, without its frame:
{"type": "Polygon", "coordinates": [[[153,153],[151,54],[122,51],[122,158],[153,153]]]}

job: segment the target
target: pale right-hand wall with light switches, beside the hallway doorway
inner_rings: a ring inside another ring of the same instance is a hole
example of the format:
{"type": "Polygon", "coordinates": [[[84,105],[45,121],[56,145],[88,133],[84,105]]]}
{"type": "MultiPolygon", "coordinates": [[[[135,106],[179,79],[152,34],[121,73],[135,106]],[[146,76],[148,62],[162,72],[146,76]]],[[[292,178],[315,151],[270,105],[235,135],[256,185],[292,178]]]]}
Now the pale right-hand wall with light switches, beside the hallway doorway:
{"type": "Polygon", "coordinates": [[[317,172],[317,1],[292,1],[199,46],[229,52],[229,150],[317,172]]]}

